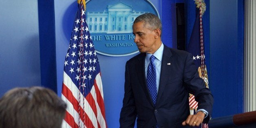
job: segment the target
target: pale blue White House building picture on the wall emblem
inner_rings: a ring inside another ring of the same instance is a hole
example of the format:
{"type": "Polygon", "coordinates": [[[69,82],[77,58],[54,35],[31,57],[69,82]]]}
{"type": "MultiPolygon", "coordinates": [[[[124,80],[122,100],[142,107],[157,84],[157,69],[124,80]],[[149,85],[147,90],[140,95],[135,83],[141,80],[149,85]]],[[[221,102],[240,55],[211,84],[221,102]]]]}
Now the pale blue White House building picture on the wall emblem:
{"type": "Polygon", "coordinates": [[[87,12],[87,24],[90,33],[132,33],[135,18],[143,11],[132,10],[131,5],[117,2],[107,6],[107,11],[87,12]]]}

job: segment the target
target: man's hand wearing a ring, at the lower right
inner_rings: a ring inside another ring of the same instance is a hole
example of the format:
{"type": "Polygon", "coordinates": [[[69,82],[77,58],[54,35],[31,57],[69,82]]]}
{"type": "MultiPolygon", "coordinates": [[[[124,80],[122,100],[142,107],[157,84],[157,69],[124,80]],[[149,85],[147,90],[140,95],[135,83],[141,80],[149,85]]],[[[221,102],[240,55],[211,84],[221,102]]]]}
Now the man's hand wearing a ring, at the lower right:
{"type": "Polygon", "coordinates": [[[199,126],[203,122],[204,117],[205,114],[199,111],[195,115],[189,115],[188,118],[182,122],[182,125],[199,126]]]}

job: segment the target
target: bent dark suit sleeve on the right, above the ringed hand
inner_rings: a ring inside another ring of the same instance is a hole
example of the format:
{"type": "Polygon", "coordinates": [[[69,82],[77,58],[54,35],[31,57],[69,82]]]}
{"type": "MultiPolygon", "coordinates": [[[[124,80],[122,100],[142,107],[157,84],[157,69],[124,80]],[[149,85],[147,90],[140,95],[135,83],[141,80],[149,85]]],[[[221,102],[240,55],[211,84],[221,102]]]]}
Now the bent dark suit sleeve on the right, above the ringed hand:
{"type": "Polygon", "coordinates": [[[212,114],[213,96],[209,88],[206,88],[203,79],[199,77],[197,67],[193,62],[191,54],[186,57],[183,76],[189,93],[193,94],[195,100],[198,102],[197,109],[205,109],[208,112],[207,118],[203,121],[207,123],[212,114]]]}

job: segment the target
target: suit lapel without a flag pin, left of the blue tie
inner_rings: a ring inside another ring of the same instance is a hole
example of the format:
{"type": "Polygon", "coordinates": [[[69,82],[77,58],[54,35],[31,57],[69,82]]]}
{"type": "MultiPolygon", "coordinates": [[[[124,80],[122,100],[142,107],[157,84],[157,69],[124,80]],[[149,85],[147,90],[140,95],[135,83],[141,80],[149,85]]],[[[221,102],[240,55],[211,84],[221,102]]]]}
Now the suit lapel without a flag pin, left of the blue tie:
{"type": "Polygon", "coordinates": [[[150,93],[148,91],[148,86],[146,84],[145,57],[146,57],[146,53],[141,53],[140,56],[138,57],[139,62],[136,64],[136,71],[138,74],[138,79],[139,79],[140,85],[142,86],[144,93],[146,94],[146,97],[150,101],[150,104],[152,106],[154,106],[154,103],[153,103],[150,93]]]}

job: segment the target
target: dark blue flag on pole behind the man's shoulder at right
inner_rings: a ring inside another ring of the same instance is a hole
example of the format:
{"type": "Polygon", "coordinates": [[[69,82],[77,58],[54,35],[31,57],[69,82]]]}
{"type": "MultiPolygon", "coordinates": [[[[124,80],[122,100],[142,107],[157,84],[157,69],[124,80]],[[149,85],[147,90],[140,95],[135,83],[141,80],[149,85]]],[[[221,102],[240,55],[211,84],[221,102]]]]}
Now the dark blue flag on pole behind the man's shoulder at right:
{"type": "MultiPolygon", "coordinates": [[[[205,65],[204,40],[203,40],[203,22],[202,15],[206,9],[204,0],[194,0],[196,3],[196,20],[194,22],[190,41],[187,51],[193,55],[194,63],[198,67],[199,76],[205,81],[208,88],[208,76],[205,65]]],[[[190,114],[194,114],[194,110],[198,107],[194,95],[190,94],[189,98],[190,114]]],[[[208,128],[207,124],[202,124],[202,128],[208,128]]]]}

